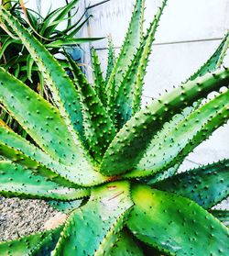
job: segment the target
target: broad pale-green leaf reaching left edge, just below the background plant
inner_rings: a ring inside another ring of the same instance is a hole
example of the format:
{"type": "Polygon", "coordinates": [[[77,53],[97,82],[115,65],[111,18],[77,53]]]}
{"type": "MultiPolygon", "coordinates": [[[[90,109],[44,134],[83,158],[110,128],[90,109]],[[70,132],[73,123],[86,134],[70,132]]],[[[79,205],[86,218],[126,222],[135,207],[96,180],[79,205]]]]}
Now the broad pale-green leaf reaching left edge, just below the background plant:
{"type": "Polygon", "coordinates": [[[93,164],[87,153],[71,137],[56,107],[49,105],[42,97],[3,69],[0,69],[0,81],[2,81],[0,101],[41,149],[56,161],[60,161],[61,176],[64,175],[64,178],[78,185],[104,183],[105,177],[93,170],[93,164]],[[25,100],[27,104],[23,104],[25,100]]]}

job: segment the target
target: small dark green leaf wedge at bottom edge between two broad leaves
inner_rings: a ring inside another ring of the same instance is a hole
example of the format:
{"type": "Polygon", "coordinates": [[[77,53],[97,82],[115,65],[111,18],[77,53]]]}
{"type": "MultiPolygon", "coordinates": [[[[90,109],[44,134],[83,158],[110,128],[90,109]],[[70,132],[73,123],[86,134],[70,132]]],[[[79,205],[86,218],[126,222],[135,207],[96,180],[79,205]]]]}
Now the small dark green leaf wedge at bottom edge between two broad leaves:
{"type": "Polygon", "coordinates": [[[136,240],[127,230],[122,230],[110,251],[112,256],[144,256],[143,251],[139,248],[136,240]]]}

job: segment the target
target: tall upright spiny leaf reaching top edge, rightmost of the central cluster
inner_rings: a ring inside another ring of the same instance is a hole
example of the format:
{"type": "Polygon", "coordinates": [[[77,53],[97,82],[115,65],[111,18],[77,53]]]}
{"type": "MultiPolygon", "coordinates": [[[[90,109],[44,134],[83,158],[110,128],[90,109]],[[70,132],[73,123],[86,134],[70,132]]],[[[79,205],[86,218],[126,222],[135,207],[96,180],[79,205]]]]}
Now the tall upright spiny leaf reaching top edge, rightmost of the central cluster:
{"type": "Polygon", "coordinates": [[[136,50],[133,61],[127,68],[124,78],[118,88],[115,98],[115,113],[118,128],[122,128],[126,121],[128,121],[130,117],[139,110],[148,57],[152,43],[155,39],[158,21],[166,3],[167,1],[164,1],[163,5],[158,9],[157,16],[148,28],[147,35],[144,37],[140,47],[136,50]]]}

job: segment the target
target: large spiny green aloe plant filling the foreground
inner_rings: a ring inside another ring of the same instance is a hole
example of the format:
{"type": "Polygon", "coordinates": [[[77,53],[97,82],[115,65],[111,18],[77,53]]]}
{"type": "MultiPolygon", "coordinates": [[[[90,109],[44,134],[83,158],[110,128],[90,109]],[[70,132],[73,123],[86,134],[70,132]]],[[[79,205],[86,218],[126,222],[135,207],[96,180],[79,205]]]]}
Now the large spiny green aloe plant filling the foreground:
{"type": "Polygon", "coordinates": [[[0,9],[57,106],[0,69],[0,101],[34,141],[0,127],[0,194],[41,198],[69,215],[59,228],[0,243],[1,255],[228,255],[228,212],[212,207],[229,194],[229,160],[177,173],[228,120],[228,34],[190,79],[144,108],[143,77],[167,1],[142,35],[144,2],[136,0],[117,59],[110,44],[105,78],[93,51],[93,85],[68,56],[71,81],[0,9]]]}

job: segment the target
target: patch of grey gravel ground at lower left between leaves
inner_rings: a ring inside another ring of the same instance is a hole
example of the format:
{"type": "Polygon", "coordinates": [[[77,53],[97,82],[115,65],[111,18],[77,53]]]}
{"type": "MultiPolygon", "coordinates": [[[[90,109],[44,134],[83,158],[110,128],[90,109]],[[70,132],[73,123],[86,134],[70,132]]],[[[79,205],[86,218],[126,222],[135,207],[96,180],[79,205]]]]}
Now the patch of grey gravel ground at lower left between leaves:
{"type": "Polygon", "coordinates": [[[42,231],[57,213],[42,200],[0,197],[0,241],[42,231]]]}

